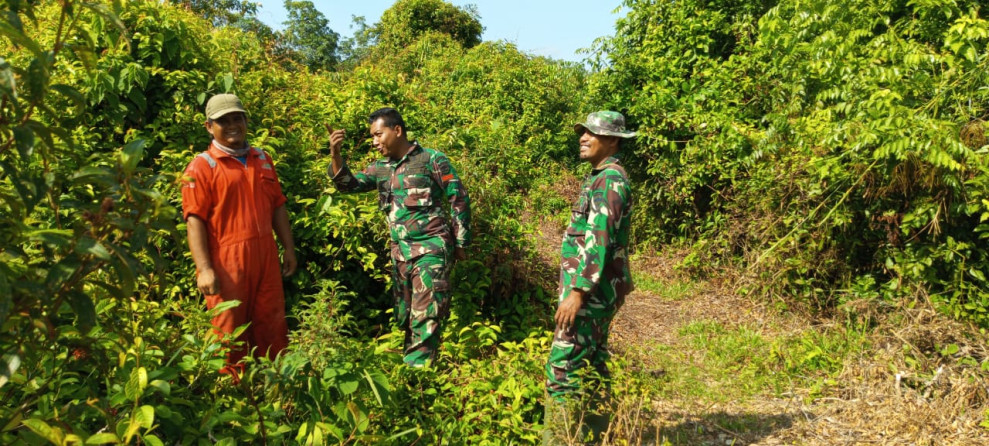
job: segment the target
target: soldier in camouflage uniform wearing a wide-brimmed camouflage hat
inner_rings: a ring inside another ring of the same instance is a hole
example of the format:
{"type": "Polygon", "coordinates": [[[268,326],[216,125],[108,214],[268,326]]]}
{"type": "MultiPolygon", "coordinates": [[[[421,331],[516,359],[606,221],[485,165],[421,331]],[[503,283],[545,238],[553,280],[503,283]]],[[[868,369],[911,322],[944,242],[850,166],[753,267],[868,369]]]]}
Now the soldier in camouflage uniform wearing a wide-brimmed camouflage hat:
{"type": "MultiPolygon", "coordinates": [[[[559,408],[571,394],[607,390],[608,330],[632,290],[628,262],[632,189],[616,155],[621,140],[635,132],[626,131],[625,117],[613,111],[591,113],[574,131],[580,135],[580,159],[592,170],[563,236],[559,307],[546,364],[548,426],[557,421],[554,406],[559,408]],[[598,379],[605,380],[603,388],[597,386],[598,379]]],[[[604,432],[606,417],[583,418],[595,435],[604,432]]]]}

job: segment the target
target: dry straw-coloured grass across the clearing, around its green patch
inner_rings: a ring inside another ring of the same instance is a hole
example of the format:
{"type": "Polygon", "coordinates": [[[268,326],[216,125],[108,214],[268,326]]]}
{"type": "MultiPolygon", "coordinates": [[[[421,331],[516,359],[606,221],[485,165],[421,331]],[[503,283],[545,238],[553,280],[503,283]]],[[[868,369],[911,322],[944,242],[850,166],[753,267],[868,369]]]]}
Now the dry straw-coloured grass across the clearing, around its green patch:
{"type": "MultiPolygon", "coordinates": [[[[675,256],[657,255],[636,267],[667,283],[687,280],[676,272],[676,262],[675,256]]],[[[852,304],[851,311],[871,321],[864,337],[871,347],[848,358],[823,389],[811,388],[812,380],[795,379],[797,384],[782,394],[767,389],[755,397],[697,398],[666,389],[664,399],[638,406],[633,397],[616,407],[620,431],[610,444],[989,444],[989,429],[980,426],[989,411],[989,373],[979,367],[989,358],[985,335],[922,300],[914,306],[852,304]],[[958,346],[957,352],[946,354],[948,345],[958,346]]],[[[656,369],[655,346],[688,348],[678,333],[698,320],[729,329],[748,327],[767,339],[845,323],[782,314],[739,296],[729,281],[708,281],[698,284],[689,299],[633,293],[614,323],[612,346],[630,371],[663,376],[667,371],[656,369]]],[[[704,354],[681,356],[693,361],[704,354]]],[[[675,385],[672,379],[657,382],[675,385]]]]}

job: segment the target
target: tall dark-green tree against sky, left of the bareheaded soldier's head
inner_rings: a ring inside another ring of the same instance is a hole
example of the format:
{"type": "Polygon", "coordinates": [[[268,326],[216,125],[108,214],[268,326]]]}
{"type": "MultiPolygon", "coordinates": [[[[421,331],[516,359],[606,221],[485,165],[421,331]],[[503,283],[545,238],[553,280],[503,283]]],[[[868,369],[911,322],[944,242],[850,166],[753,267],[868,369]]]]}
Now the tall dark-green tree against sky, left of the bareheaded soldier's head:
{"type": "Polygon", "coordinates": [[[284,22],[283,42],[298,55],[299,62],[310,70],[329,70],[336,66],[340,35],[330,29],[330,22],[308,0],[285,0],[288,20],[284,22]]]}

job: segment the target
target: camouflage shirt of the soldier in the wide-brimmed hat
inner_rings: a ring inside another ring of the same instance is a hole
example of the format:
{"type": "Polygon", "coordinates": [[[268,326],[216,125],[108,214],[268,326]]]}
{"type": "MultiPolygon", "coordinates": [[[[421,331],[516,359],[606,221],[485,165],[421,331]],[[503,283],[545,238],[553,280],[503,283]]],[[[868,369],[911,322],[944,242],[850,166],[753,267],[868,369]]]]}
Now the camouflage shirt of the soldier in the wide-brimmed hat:
{"type": "Polygon", "coordinates": [[[582,310],[588,317],[614,315],[632,290],[628,262],[631,212],[628,178],[618,159],[610,157],[584,180],[563,236],[560,298],[574,288],[588,292],[582,310]]]}

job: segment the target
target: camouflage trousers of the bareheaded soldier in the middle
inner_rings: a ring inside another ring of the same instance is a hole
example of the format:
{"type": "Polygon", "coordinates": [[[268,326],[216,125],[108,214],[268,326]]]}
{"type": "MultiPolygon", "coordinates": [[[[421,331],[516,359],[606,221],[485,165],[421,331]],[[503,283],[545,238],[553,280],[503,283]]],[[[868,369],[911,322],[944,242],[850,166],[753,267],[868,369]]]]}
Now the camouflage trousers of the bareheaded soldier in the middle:
{"type": "Polygon", "coordinates": [[[450,309],[450,268],[443,253],[394,262],[395,318],[405,330],[406,364],[421,367],[436,359],[440,333],[450,309]]]}

